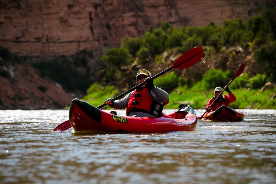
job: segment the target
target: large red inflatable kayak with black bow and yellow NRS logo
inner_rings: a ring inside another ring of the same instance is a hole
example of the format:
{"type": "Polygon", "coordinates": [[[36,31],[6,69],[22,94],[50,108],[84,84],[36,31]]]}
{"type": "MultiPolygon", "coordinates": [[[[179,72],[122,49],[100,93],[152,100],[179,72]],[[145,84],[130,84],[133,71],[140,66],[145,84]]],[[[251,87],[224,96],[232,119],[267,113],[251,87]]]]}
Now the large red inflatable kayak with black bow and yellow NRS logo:
{"type": "Polygon", "coordinates": [[[69,120],[75,131],[162,133],[196,129],[196,113],[192,106],[185,106],[168,115],[172,118],[118,116],[91,106],[83,100],[74,99],[69,120]]]}

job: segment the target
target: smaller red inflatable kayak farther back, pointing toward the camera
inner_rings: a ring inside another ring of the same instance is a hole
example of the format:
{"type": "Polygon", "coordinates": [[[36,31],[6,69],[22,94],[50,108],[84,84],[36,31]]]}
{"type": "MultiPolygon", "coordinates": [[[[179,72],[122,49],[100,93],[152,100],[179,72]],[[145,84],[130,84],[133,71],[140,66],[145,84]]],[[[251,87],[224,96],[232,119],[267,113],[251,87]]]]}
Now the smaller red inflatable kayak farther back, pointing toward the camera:
{"type": "Polygon", "coordinates": [[[244,114],[230,107],[221,106],[213,112],[207,112],[202,118],[216,121],[242,121],[244,114]]]}

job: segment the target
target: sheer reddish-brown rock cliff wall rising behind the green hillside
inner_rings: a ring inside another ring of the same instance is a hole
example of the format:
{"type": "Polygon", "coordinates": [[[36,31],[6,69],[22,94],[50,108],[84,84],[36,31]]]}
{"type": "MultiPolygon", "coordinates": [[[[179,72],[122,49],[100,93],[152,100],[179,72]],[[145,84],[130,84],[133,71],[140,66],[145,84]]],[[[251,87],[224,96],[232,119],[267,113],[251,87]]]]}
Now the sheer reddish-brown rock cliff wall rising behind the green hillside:
{"type": "Polygon", "coordinates": [[[167,21],[174,27],[248,18],[275,0],[1,0],[0,45],[24,56],[105,51],[126,35],[167,21]]]}

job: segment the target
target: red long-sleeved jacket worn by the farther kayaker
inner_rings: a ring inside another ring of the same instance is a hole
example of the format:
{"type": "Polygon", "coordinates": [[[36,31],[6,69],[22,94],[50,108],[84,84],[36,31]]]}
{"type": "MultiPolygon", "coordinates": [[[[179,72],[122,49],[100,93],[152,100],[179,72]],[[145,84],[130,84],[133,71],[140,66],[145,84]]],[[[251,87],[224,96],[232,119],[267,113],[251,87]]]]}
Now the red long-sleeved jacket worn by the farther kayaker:
{"type": "MultiPolygon", "coordinates": [[[[215,97],[212,97],[208,101],[207,106],[210,106],[215,99],[216,99],[215,97]]],[[[229,104],[236,101],[236,99],[237,98],[235,97],[235,95],[232,92],[230,92],[229,95],[222,95],[222,98],[217,99],[215,101],[215,103],[211,106],[211,111],[217,110],[220,106],[228,106],[229,107],[229,104]]],[[[205,110],[207,109],[207,106],[205,107],[205,110]]],[[[210,111],[210,110],[208,110],[208,111],[210,111]]]]}

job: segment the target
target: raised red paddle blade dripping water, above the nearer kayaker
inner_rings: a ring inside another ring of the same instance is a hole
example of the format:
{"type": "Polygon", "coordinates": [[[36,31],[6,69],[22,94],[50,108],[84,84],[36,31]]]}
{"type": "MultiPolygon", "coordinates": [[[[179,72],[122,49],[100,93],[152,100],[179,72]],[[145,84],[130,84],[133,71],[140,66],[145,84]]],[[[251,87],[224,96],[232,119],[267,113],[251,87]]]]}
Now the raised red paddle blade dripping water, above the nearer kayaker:
{"type": "Polygon", "coordinates": [[[170,66],[170,70],[173,68],[188,68],[190,66],[193,66],[197,62],[199,62],[202,59],[203,56],[203,49],[202,47],[198,46],[195,48],[192,48],[182,54],[176,61],[175,63],[170,66]]]}

